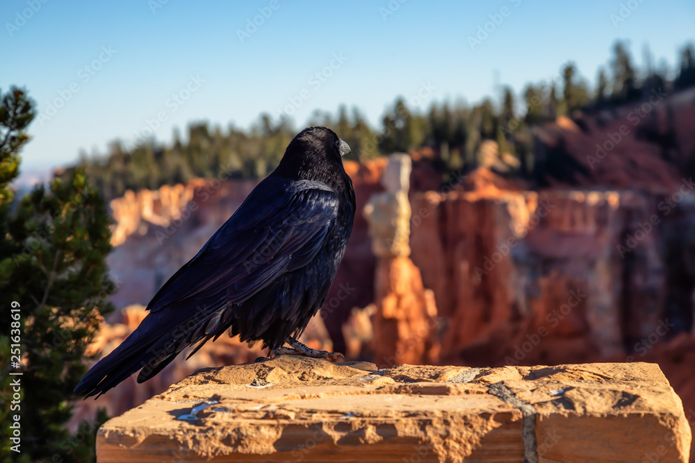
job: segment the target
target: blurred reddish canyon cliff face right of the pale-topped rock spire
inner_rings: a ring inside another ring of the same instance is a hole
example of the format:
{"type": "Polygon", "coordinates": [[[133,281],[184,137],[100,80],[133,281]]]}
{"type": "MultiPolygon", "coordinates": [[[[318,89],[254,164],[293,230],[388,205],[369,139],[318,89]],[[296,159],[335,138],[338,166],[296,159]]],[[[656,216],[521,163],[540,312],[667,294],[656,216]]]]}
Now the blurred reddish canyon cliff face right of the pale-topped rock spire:
{"type": "MultiPolygon", "coordinates": [[[[667,305],[664,217],[635,192],[451,192],[411,200],[412,259],[448,324],[443,359],[464,364],[623,358],[691,327],[667,305]]],[[[692,287],[688,296],[692,296],[692,287]]]]}

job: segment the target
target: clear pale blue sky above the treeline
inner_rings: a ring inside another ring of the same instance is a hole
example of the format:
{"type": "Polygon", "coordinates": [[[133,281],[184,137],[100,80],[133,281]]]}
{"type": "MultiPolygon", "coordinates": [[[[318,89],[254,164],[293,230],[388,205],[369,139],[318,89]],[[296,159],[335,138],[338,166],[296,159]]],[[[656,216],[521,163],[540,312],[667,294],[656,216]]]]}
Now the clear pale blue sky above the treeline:
{"type": "Polygon", "coordinates": [[[593,85],[617,39],[637,64],[648,44],[673,67],[695,38],[685,0],[5,0],[0,20],[0,89],[26,87],[40,113],[24,170],[115,139],[169,142],[190,121],[247,128],[261,112],[300,128],[345,103],[376,126],[395,96],[416,110],[498,99],[496,83],[519,94],[567,60],[593,85]]]}

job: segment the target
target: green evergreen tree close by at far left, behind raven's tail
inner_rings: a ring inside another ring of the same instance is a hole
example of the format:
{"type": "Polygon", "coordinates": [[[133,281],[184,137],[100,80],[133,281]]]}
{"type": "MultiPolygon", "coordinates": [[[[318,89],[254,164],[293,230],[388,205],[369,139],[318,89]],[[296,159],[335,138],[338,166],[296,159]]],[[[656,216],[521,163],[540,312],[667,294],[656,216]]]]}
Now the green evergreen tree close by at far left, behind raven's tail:
{"type": "Polygon", "coordinates": [[[10,212],[8,185],[17,176],[19,150],[35,112],[17,88],[0,101],[0,307],[7,315],[0,321],[0,344],[12,346],[0,352],[3,399],[15,390],[13,381],[18,379],[21,388],[19,409],[10,411],[7,403],[0,409],[1,455],[3,461],[90,462],[104,414],[95,424],[83,423],[76,435],[66,424],[72,389],[86,372],[85,349],[101,316],[111,310],[106,303],[113,289],[105,263],[111,250],[106,204],[74,170],[67,180],[35,188],[10,212]],[[11,321],[10,308],[18,309],[11,321]],[[15,415],[21,453],[10,450],[15,415]]]}

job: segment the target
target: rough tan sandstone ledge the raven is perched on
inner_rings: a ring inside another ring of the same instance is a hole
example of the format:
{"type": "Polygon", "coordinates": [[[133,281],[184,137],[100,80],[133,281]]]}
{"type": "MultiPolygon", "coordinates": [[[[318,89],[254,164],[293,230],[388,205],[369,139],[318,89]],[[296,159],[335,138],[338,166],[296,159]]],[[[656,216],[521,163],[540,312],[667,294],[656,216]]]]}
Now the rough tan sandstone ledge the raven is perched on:
{"type": "Polygon", "coordinates": [[[282,356],[204,369],[111,419],[97,460],[687,462],[690,441],[656,364],[377,370],[282,356]],[[191,415],[204,401],[218,403],[191,415]]]}

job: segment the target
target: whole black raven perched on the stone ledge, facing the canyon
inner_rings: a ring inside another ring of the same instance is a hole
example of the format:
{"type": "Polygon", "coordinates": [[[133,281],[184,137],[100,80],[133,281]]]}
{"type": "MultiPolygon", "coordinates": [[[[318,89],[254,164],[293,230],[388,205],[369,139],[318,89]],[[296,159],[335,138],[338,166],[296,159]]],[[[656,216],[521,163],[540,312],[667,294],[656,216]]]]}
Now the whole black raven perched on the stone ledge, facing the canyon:
{"type": "Polygon", "coordinates": [[[335,360],[295,338],[325,301],[352,232],[354,190],[341,159],[349,152],[328,128],[297,134],[275,171],[161,287],[140,326],[74,393],[104,394],[140,369],[138,382],[148,380],[183,348],[199,343],[197,351],[227,328],[270,353],[286,353],[288,342],[293,353],[335,360]]]}

